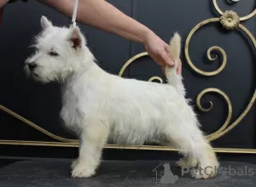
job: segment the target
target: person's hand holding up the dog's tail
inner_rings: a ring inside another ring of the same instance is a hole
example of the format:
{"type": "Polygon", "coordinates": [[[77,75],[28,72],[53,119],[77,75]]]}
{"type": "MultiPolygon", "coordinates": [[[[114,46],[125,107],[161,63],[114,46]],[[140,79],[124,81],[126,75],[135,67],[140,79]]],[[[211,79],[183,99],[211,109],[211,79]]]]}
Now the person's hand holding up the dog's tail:
{"type": "MultiPolygon", "coordinates": [[[[144,42],[144,47],[154,61],[160,65],[165,73],[165,65],[174,66],[174,62],[168,55],[169,45],[156,36],[154,33],[149,33],[144,42]]],[[[177,65],[177,75],[182,73],[182,61],[179,60],[177,65]]]]}

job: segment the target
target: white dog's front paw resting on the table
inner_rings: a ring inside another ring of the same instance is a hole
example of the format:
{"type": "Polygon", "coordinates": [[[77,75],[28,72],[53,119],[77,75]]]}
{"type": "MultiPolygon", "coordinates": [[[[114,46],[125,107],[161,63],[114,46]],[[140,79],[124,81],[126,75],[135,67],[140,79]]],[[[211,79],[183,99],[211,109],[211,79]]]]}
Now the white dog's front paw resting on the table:
{"type": "MultiPolygon", "coordinates": [[[[73,163],[75,163],[75,161],[73,163]]],[[[90,178],[94,174],[95,170],[85,167],[84,165],[80,165],[79,163],[76,163],[76,166],[72,171],[73,178],[90,178]]]]}

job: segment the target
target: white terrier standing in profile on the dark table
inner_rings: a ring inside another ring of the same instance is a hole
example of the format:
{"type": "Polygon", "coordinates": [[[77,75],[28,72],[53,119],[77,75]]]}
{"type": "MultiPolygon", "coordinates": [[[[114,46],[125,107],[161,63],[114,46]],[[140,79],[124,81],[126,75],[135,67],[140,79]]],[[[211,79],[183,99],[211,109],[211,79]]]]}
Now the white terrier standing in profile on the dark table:
{"type": "Polygon", "coordinates": [[[61,118],[79,136],[73,177],[96,173],[108,141],[142,145],[153,139],[176,146],[184,156],[180,165],[200,167],[195,178],[216,175],[217,157],[184,97],[182,77],[176,74],[181,45],[177,33],[170,42],[170,56],[176,65],[166,67],[169,83],[160,84],[103,71],[77,26],[56,27],[44,16],[41,26],[43,31],[33,45],[36,53],[26,59],[25,70],[39,82],[61,82],[61,118]]]}

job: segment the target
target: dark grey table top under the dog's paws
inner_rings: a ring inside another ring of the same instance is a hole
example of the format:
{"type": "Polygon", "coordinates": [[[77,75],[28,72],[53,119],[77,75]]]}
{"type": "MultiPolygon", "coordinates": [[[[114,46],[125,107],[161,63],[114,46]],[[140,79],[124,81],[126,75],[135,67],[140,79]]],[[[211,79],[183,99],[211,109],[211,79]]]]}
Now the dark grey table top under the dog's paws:
{"type": "Polygon", "coordinates": [[[71,160],[44,159],[18,161],[0,168],[1,187],[107,187],[107,186],[198,186],[255,187],[256,165],[246,162],[221,162],[224,172],[212,179],[181,176],[174,161],[102,161],[91,178],[71,178],[71,160]],[[165,167],[164,165],[169,165],[165,167]],[[224,170],[226,168],[226,170],[224,170]],[[233,169],[233,173],[228,171],[233,169]],[[166,169],[166,171],[165,171],[166,169]],[[234,172],[236,170],[236,172],[234,172]],[[170,171],[172,171],[170,173],[170,171]],[[177,177],[175,177],[177,176],[177,177]],[[168,178],[172,178],[171,182],[168,178]],[[169,181],[168,181],[169,180],[169,181]]]}

